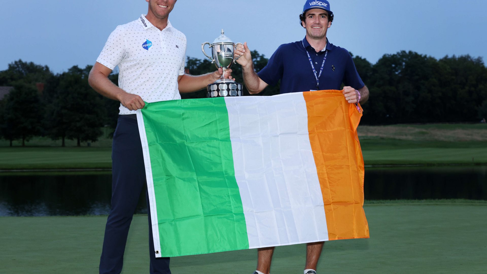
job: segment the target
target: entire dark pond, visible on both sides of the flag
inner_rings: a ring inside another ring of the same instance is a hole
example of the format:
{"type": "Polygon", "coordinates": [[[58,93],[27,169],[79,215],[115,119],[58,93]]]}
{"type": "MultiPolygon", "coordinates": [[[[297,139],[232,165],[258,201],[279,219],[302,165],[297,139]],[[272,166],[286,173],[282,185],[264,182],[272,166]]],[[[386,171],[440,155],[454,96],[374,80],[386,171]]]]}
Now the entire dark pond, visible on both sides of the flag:
{"type": "MultiPolygon", "coordinates": [[[[0,173],[0,216],[108,215],[110,172],[0,173]]],[[[367,168],[365,199],[487,200],[487,167],[367,168]]],[[[141,194],[136,213],[147,213],[141,194]]]]}

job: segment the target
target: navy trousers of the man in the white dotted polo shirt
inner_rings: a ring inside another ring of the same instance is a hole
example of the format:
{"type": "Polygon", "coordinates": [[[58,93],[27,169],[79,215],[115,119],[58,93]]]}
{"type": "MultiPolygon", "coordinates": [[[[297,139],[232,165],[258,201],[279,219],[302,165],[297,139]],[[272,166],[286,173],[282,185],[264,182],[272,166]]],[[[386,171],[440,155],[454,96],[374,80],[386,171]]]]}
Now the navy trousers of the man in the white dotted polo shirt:
{"type": "Polygon", "coordinates": [[[137,120],[120,115],[113,134],[112,208],[105,227],[100,274],[122,272],[127,235],[142,190],[146,191],[149,215],[150,274],[170,274],[169,258],[155,257],[144,158],[137,120]]]}

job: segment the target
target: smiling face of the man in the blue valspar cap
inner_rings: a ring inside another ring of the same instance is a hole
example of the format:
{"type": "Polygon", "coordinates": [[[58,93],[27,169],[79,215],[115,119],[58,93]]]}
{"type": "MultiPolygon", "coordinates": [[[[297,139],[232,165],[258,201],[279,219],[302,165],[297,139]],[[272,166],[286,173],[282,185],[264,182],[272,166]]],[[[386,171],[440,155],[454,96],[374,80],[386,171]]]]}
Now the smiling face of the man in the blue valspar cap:
{"type": "Polygon", "coordinates": [[[332,22],[328,20],[328,12],[322,9],[312,9],[306,12],[302,26],[306,28],[306,36],[311,39],[326,38],[326,32],[332,22]]]}

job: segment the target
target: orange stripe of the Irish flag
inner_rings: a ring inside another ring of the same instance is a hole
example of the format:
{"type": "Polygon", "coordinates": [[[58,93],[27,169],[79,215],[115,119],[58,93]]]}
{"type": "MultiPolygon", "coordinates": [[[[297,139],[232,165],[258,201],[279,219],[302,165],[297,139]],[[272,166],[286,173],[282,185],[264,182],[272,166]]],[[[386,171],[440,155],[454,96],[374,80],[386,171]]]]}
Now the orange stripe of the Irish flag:
{"type": "Polygon", "coordinates": [[[338,90],[304,92],[303,96],[328,237],[368,238],[363,210],[364,162],[356,132],[362,109],[358,111],[338,90]]]}

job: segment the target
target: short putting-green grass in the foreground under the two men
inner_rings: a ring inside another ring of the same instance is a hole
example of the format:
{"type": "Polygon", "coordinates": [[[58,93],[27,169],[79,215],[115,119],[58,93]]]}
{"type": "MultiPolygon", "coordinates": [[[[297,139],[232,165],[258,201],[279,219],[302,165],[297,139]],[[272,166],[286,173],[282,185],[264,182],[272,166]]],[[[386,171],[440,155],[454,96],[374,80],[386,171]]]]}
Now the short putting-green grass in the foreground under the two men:
{"type": "MultiPolygon", "coordinates": [[[[387,202],[387,201],[384,201],[387,202]]],[[[487,269],[487,205],[442,201],[364,206],[370,239],[325,243],[318,273],[480,274],[487,269]]],[[[97,273],[106,216],[0,217],[0,273],[97,273]]],[[[134,216],[124,274],[149,272],[147,216],[134,216]]],[[[256,250],[175,257],[174,274],[250,274],[256,250]]],[[[302,273],[305,245],[277,247],[273,274],[302,273]]]]}

